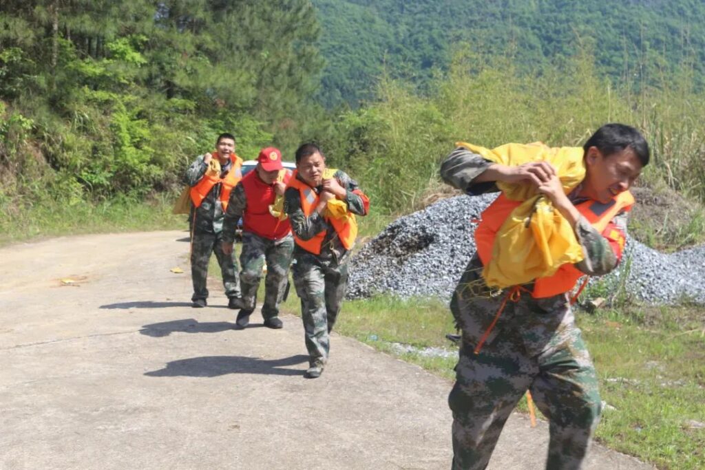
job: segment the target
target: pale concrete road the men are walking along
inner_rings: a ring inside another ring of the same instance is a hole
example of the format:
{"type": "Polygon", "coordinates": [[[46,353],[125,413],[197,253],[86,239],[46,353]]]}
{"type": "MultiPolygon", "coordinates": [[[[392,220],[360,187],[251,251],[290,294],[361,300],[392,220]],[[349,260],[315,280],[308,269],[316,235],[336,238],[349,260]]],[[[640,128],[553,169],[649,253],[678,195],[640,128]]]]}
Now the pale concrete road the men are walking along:
{"type": "MultiPolygon", "coordinates": [[[[0,469],[449,468],[448,381],[338,335],[303,378],[295,316],[233,330],[214,281],[190,307],[187,235],[0,249],[0,469]]],[[[542,469],[547,437],[513,416],[489,468],[542,469]]],[[[595,445],[586,468],[652,467],[595,445]]]]}

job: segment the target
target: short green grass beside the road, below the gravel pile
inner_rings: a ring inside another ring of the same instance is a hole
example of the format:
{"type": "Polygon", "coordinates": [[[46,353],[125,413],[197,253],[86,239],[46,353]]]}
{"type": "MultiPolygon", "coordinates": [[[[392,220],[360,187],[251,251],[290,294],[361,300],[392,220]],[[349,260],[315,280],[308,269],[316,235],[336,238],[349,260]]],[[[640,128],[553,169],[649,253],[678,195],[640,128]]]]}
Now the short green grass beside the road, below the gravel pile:
{"type": "MultiPolygon", "coordinates": [[[[290,295],[284,311],[299,314],[290,295]]],[[[701,469],[705,463],[705,309],[635,309],[578,314],[601,382],[603,413],[596,439],[661,469],[701,469]]],[[[453,320],[433,299],[376,297],[348,301],[336,331],[447,379],[455,357],[400,353],[395,343],[416,350],[442,347],[453,320]]],[[[525,400],[517,410],[526,412],[525,400]]],[[[448,423],[450,426],[450,423],[448,423]]]]}

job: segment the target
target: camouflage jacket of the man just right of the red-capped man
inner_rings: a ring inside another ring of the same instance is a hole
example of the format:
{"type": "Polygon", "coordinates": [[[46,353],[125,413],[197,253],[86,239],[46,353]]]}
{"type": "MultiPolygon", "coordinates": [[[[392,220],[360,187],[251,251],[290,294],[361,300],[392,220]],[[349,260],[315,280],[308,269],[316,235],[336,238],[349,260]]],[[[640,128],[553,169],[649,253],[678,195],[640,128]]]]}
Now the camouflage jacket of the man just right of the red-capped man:
{"type": "MultiPolygon", "coordinates": [[[[298,175],[297,178],[303,181],[298,175]]],[[[338,183],[340,183],[347,192],[346,202],[348,203],[348,211],[360,216],[367,215],[362,197],[353,192],[358,189],[357,182],[341,170],[336,171],[333,178],[336,178],[338,183]]],[[[314,187],[313,190],[316,194],[319,194],[321,187],[314,187]]],[[[343,247],[343,243],[340,238],[338,238],[338,233],[333,229],[333,225],[327,223],[325,219],[319,216],[315,211],[310,216],[305,216],[303,209],[301,209],[299,190],[294,187],[288,187],[286,192],[284,192],[284,211],[289,216],[292,232],[302,240],[309,240],[317,233],[324,230],[326,231],[326,236],[324,237],[321,247],[321,254],[318,255],[320,258],[340,260],[348,251],[343,247]]],[[[296,245],[294,255],[301,254],[302,252],[306,252],[306,250],[296,245]]]]}

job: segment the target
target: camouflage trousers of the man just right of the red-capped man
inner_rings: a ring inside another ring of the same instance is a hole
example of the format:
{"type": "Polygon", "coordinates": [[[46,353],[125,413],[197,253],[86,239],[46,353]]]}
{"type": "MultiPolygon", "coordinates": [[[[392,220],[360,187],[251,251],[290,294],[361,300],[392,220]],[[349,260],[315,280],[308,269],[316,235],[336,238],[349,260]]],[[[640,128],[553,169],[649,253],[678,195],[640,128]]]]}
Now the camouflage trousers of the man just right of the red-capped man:
{"type": "Polygon", "coordinates": [[[309,362],[325,364],[331,348],[330,334],[348,289],[348,256],[340,262],[314,254],[295,255],[294,285],[301,299],[309,362]]]}

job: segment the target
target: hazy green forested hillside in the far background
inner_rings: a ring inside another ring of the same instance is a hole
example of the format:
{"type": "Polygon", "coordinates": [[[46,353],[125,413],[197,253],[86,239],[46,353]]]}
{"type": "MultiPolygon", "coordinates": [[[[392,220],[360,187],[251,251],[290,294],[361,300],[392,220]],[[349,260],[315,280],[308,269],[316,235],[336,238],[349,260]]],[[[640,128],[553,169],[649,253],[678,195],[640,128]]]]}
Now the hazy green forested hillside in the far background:
{"type": "Polygon", "coordinates": [[[448,70],[457,44],[531,71],[582,48],[604,73],[637,85],[682,66],[704,70],[705,4],[697,0],[313,3],[327,62],[319,96],[328,106],[370,99],[383,69],[425,91],[434,70],[448,70]]]}

